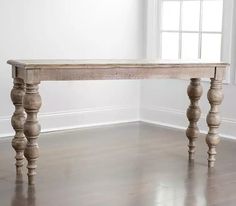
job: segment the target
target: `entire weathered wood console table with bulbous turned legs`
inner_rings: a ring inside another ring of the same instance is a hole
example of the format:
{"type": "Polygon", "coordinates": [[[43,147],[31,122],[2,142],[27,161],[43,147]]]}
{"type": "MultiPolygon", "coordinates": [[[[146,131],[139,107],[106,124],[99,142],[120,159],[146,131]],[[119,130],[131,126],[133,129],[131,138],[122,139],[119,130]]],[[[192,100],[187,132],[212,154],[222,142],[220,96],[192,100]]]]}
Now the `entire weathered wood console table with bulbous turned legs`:
{"type": "Polygon", "coordinates": [[[187,89],[190,99],[190,106],[187,109],[189,126],[186,135],[189,139],[189,159],[193,160],[195,141],[199,136],[197,122],[201,114],[198,106],[202,95],[200,80],[209,78],[211,86],[208,100],[211,107],[207,115],[209,132],[206,136],[206,143],[209,147],[208,166],[214,166],[216,145],[219,143],[218,129],[221,122],[219,105],[223,100],[222,81],[228,67],[226,63],[151,60],[9,60],[8,64],[12,65],[14,79],[11,99],[15,105],[15,112],[12,116],[15,136],[12,146],[16,151],[16,172],[17,174],[22,173],[25,156],[28,160],[29,184],[35,182],[36,160],[39,157],[37,138],[40,134],[40,124],[37,114],[42,102],[38,92],[41,81],[189,79],[190,85],[187,89]]]}

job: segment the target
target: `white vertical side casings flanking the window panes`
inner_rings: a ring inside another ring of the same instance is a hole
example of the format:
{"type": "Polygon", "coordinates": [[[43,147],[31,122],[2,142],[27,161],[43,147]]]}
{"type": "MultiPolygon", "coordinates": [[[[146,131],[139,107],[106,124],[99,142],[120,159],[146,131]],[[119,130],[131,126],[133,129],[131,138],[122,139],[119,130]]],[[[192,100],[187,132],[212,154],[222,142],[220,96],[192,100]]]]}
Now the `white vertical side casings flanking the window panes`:
{"type": "MultiPolygon", "coordinates": [[[[146,3],[146,58],[160,59],[162,0],[147,0],[146,3]]],[[[234,0],[223,0],[223,3],[221,61],[231,63],[234,0]]],[[[229,69],[224,83],[229,84],[231,82],[231,73],[232,71],[229,69]]]]}

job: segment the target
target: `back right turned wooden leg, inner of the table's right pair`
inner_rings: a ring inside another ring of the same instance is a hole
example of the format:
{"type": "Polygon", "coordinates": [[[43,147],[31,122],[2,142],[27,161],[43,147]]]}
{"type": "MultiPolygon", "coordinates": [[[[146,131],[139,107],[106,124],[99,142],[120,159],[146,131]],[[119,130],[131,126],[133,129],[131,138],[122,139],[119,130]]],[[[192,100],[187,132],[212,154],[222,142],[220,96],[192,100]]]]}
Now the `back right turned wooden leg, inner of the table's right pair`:
{"type": "Polygon", "coordinates": [[[200,107],[198,106],[198,101],[202,96],[202,86],[200,84],[200,79],[191,79],[190,85],[188,86],[188,96],[190,99],[190,106],[187,110],[187,117],[189,120],[189,126],[186,130],[186,136],[189,139],[189,160],[194,159],[195,153],[195,141],[199,136],[199,129],[197,122],[201,115],[200,107]]]}

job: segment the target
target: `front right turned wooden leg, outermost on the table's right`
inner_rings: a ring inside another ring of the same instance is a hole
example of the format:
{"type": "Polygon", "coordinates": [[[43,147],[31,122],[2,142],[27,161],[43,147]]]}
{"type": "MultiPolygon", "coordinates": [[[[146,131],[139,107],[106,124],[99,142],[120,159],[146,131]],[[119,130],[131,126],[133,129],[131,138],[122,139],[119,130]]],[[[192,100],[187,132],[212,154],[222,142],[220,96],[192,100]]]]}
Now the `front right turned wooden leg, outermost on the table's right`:
{"type": "Polygon", "coordinates": [[[211,79],[211,87],[208,91],[208,100],[211,109],[207,115],[207,124],[209,132],[206,136],[206,143],[208,144],[208,166],[214,167],[216,156],[216,145],[220,142],[218,128],[221,123],[219,105],[223,101],[224,95],[222,92],[222,81],[211,79]]]}

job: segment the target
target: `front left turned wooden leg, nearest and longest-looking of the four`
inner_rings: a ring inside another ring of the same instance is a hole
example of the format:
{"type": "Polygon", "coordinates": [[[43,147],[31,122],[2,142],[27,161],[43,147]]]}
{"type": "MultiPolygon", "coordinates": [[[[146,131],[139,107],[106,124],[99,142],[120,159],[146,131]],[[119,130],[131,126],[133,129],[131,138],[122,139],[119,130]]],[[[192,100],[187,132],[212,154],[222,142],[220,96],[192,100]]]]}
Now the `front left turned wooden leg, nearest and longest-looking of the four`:
{"type": "Polygon", "coordinates": [[[28,160],[28,180],[29,184],[34,184],[34,176],[36,175],[36,160],[39,157],[39,147],[37,138],[40,134],[40,124],[37,120],[37,114],[41,107],[41,97],[38,92],[38,84],[26,84],[26,94],[24,97],[24,108],[27,113],[24,125],[24,133],[28,140],[25,157],[28,160]]]}

